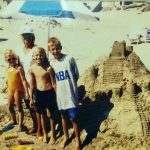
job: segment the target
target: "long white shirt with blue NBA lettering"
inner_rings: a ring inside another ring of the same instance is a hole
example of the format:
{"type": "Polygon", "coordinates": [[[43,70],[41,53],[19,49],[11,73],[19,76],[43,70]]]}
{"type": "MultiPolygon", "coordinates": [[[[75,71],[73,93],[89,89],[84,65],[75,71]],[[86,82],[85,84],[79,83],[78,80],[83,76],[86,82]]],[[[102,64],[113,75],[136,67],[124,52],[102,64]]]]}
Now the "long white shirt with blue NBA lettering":
{"type": "Polygon", "coordinates": [[[50,64],[55,71],[59,110],[76,107],[78,105],[77,80],[79,72],[74,58],[63,54],[59,61],[54,59],[50,64]]]}

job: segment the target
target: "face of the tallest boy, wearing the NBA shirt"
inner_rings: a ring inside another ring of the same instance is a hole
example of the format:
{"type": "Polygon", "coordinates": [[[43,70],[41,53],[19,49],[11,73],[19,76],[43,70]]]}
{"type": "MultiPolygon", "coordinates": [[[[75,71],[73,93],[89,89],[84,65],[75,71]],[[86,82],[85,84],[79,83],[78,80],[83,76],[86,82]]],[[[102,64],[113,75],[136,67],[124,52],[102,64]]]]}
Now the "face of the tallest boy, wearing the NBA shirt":
{"type": "Polygon", "coordinates": [[[61,49],[58,48],[57,45],[50,42],[48,44],[48,48],[49,48],[49,51],[51,52],[51,54],[54,56],[55,59],[61,58],[61,49]]]}

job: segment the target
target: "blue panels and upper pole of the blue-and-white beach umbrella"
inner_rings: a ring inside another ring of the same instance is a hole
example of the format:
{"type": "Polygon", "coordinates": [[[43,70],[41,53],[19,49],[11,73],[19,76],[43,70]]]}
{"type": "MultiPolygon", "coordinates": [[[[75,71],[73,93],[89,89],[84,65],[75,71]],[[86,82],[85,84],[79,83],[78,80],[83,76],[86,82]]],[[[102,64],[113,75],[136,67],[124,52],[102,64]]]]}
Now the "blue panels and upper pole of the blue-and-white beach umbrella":
{"type": "Polygon", "coordinates": [[[19,9],[19,13],[49,17],[48,38],[50,34],[50,18],[75,19],[71,11],[63,10],[61,3],[54,0],[26,0],[19,9]]]}

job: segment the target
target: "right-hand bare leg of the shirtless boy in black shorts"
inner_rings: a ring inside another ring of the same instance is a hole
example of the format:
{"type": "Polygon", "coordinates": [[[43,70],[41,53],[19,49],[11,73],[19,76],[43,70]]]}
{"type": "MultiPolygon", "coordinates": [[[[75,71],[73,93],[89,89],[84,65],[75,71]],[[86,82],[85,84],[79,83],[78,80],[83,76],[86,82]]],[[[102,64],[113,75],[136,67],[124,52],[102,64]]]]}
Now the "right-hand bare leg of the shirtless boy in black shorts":
{"type": "Polygon", "coordinates": [[[55,124],[54,124],[54,119],[50,113],[50,110],[47,109],[47,116],[50,120],[50,127],[51,127],[51,139],[50,139],[50,144],[55,144],[56,139],[55,139],[55,124]]]}

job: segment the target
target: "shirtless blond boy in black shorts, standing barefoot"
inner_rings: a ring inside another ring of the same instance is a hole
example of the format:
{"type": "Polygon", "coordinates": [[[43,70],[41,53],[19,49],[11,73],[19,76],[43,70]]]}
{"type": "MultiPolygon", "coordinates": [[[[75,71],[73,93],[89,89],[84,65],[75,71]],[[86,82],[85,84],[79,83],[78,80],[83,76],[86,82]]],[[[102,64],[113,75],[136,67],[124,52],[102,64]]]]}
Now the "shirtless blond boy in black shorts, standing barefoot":
{"type": "MultiPolygon", "coordinates": [[[[47,142],[47,132],[45,128],[46,108],[49,110],[50,126],[51,126],[51,139],[50,144],[55,143],[55,126],[53,120],[53,113],[55,107],[55,76],[52,67],[48,63],[45,50],[41,47],[35,47],[33,52],[33,64],[29,69],[31,76],[30,94],[32,107],[35,103],[36,116],[37,116],[37,137],[41,139],[41,126],[43,130],[43,142],[47,142]],[[33,97],[34,92],[34,97],[33,97]],[[35,101],[35,102],[33,102],[35,101]]],[[[57,105],[57,104],[56,104],[57,105]]]]}

